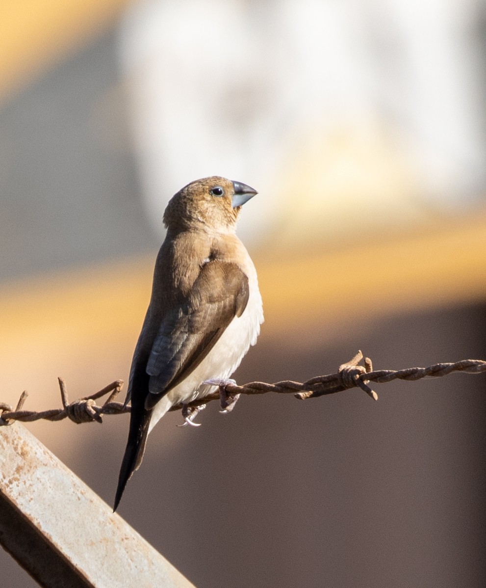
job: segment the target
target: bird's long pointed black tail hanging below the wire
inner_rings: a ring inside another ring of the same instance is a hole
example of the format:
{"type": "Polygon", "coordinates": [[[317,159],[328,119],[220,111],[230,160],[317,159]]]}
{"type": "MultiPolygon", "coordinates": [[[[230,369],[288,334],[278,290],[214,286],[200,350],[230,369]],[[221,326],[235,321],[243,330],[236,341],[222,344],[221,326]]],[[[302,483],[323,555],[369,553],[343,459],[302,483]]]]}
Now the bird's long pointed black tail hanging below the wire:
{"type": "Polygon", "coordinates": [[[118,476],[118,487],[116,489],[113,512],[115,512],[120,503],[123,490],[125,490],[126,483],[130,479],[130,476],[132,476],[132,473],[135,472],[135,470],[140,467],[140,463],[142,463],[147,436],[149,434],[151,415],[152,410],[145,410],[144,408],[141,410],[134,410],[132,406],[128,442],[126,443],[125,455],[123,456],[122,467],[120,467],[120,473],[118,476]]]}

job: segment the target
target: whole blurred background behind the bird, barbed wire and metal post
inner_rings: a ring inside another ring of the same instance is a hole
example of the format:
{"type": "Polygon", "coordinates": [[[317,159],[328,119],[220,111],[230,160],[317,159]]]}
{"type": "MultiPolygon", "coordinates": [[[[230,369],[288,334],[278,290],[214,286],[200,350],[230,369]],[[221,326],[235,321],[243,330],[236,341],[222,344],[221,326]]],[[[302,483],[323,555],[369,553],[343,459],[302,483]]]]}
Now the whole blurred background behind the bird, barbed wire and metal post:
{"type": "MultiPolygon", "coordinates": [[[[4,0],[0,400],[128,379],[163,210],[208,175],[259,191],[239,383],[485,359],[485,99],[481,0],[4,0]]],[[[485,387],[171,413],[119,514],[198,588],[483,586],[485,387]]],[[[128,419],[27,426],[112,504],[128,419]]]]}

